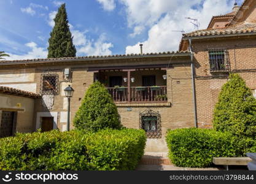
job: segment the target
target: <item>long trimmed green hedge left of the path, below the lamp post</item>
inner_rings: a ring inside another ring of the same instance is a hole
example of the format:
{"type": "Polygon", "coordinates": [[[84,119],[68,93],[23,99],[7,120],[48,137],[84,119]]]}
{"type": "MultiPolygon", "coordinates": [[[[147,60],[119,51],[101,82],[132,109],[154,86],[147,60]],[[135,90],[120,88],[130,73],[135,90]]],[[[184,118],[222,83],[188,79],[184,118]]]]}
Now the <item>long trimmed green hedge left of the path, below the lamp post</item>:
{"type": "Polygon", "coordinates": [[[0,170],[133,170],[144,154],[145,132],[34,132],[0,139],[0,170]]]}

